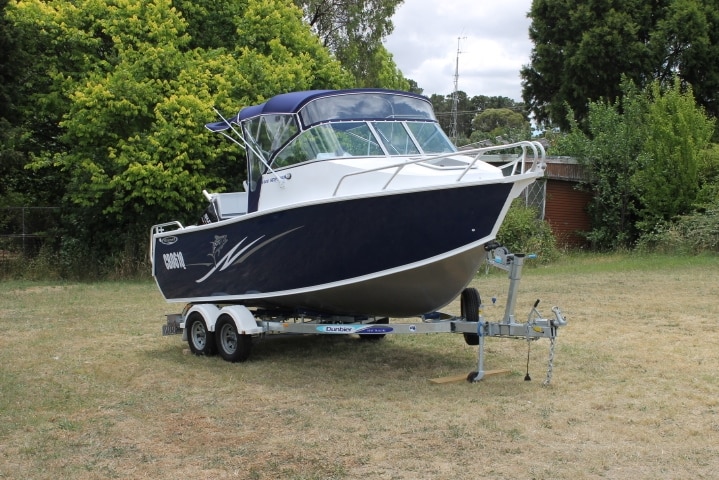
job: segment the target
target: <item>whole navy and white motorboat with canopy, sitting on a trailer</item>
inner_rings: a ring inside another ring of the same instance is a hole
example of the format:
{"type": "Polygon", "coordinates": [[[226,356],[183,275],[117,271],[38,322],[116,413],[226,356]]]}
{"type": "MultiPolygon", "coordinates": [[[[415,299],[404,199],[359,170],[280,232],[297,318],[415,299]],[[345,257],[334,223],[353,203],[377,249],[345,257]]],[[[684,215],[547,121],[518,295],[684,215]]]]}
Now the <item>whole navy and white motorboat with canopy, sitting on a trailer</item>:
{"type": "Polygon", "coordinates": [[[409,92],[292,92],[220,118],[206,128],[245,149],[247,180],[203,192],[196,225],[152,227],[152,274],[168,302],[438,311],[545,168],[536,142],[458,150],[430,101],[409,92]]]}

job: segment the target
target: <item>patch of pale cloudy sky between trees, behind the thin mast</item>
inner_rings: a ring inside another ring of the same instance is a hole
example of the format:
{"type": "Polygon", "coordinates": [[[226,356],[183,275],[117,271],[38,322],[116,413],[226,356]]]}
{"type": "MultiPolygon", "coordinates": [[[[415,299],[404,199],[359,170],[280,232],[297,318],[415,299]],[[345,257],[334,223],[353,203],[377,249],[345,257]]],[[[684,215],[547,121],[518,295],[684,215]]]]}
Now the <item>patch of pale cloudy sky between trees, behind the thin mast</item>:
{"type": "Polygon", "coordinates": [[[531,5],[532,0],[404,0],[385,47],[425,95],[449,95],[459,39],[459,90],[521,101],[519,70],[532,49],[531,5]]]}

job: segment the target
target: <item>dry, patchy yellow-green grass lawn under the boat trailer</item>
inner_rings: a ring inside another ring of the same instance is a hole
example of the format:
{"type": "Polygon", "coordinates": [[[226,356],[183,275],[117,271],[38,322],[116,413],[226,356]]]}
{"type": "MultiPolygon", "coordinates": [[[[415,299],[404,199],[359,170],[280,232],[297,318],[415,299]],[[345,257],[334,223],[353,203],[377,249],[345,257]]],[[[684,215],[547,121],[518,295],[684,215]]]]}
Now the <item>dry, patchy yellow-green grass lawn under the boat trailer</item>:
{"type": "MultiPolygon", "coordinates": [[[[654,479],[719,472],[719,258],[526,268],[549,344],[461,335],[275,338],[250,360],[162,337],[151,282],[0,283],[0,478],[654,479]]],[[[477,277],[499,320],[504,272],[477,277]]],[[[447,309],[459,313],[459,305],[447,309]]],[[[526,312],[526,313],[525,313],[526,312]]]]}

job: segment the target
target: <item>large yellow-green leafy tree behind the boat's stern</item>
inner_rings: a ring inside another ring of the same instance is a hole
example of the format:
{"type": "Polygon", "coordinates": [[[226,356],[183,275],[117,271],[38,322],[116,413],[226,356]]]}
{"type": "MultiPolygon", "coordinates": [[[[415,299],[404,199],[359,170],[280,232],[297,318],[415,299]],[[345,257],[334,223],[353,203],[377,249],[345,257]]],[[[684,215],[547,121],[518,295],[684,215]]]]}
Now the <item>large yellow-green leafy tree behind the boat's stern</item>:
{"type": "Polygon", "coordinates": [[[171,0],[27,0],[12,20],[48,72],[33,101],[46,114],[36,128],[53,136],[30,171],[64,177],[68,237],[105,257],[142,258],[150,225],[194,220],[203,188],[238,188],[240,152],[203,128],[213,105],[234,114],[352,81],[289,0],[249,0],[232,18],[232,49],[190,48],[171,0]]]}

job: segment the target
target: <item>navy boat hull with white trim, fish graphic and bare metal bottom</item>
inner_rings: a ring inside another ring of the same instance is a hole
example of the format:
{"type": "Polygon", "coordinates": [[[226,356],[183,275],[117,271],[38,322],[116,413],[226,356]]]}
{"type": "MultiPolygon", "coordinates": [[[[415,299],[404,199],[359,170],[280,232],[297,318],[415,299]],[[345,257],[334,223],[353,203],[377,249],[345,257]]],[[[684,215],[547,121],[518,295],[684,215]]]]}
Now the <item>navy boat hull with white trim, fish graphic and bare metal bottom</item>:
{"type": "Polygon", "coordinates": [[[335,198],[155,235],[168,301],[405,317],[476,274],[512,183],[335,198]]]}

